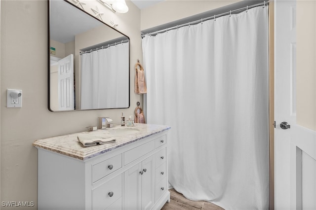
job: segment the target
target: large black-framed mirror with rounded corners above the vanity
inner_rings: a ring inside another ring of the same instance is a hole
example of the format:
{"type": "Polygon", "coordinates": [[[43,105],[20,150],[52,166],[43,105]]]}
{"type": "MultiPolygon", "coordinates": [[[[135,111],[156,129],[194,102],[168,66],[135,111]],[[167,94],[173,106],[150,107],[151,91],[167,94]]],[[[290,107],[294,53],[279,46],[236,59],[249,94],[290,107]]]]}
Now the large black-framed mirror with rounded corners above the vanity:
{"type": "Polygon", "coordinates": [[[129,37],[66,0],[48,1],[48,109],[129,107],[129,37]]]}

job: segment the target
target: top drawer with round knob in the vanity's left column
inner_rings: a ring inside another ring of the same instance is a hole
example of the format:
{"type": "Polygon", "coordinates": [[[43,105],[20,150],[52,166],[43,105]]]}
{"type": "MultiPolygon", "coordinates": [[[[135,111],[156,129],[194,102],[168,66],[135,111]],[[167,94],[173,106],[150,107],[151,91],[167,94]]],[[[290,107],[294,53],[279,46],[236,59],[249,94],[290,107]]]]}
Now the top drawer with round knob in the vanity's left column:
{"type": "Polygon", "coordinates": [[[118,154],[110,159],[102,161],[92,166],[92,182],[115,172],[122,167],[122,154],[118,154]]]}

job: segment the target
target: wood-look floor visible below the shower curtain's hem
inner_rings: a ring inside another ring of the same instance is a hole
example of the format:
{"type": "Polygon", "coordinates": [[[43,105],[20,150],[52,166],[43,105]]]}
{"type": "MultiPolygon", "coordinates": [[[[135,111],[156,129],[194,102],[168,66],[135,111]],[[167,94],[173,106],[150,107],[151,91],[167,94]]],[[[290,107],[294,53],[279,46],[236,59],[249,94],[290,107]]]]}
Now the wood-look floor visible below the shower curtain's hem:
{"type": "Polygon", "coordinates": [[[169,189],[169,191],[170,202],[166,203],[161,210],[224,210],[223,208],[206,201],[191,201],[186,199],[175,189],[169,189]]]}

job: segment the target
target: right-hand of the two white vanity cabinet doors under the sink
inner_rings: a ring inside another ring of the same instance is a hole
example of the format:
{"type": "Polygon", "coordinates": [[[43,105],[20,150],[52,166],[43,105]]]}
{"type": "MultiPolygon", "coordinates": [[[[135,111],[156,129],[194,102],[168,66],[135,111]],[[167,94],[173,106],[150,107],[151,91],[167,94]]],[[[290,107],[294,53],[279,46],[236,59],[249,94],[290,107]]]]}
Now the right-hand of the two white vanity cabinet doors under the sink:
{"type": "Polygon", "coordinates": [[[155,166],[151,156],[142,162],[142,210],[149,210],[155,204],[155,166]]]}

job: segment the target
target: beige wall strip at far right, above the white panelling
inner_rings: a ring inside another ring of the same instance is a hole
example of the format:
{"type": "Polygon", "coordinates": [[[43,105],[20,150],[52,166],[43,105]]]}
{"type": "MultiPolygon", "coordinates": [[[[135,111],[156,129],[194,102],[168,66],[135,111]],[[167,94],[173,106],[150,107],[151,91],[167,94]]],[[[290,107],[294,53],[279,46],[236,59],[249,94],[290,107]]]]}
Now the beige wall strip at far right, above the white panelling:
{"type": "Polygon", "coordinates": [[[297,1],[297,124],[316,131],[316,1],[297,1]]]}

